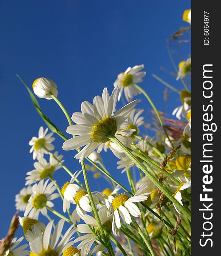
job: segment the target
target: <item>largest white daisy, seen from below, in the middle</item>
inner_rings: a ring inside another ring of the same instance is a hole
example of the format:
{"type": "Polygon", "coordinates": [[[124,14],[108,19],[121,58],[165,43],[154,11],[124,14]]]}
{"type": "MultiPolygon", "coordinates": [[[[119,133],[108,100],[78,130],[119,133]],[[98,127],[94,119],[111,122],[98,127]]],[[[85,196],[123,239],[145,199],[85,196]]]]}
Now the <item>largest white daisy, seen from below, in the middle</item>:
{"type": "Polygon", "coordinates": [[[107,88],[104,88],[102,97],[94,97],[93,105],[87,101],[82,102],[82,112],[73,113],[71,118],[77,125],[68,126],[66,132],[77,136],[65,141],[62,148],[73,150],[86,145],[75,155],[79,162],[84,157],[88,157],[96,148],[98,153],[102,151],[105,143],[110,140],[109,137],[115,135],[116,132],[120,133],[120,126],[136,106],[137,100],[113,114],[118,94],[118,87],[114,88],[111,96],[107,88]]]}

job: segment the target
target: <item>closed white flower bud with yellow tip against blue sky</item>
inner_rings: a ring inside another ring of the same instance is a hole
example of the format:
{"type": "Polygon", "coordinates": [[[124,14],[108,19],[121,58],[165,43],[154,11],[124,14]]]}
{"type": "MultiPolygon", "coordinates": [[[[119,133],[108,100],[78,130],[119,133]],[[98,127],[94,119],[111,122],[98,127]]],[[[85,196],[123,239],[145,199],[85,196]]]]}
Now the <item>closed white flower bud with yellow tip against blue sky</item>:
{"type": "Polygon", "coordinates": [[[57,85],[49,78],[38,78],[32,84],[34,94],[39,98],[52,99],[51,94],[57,97],[57,85]]]}

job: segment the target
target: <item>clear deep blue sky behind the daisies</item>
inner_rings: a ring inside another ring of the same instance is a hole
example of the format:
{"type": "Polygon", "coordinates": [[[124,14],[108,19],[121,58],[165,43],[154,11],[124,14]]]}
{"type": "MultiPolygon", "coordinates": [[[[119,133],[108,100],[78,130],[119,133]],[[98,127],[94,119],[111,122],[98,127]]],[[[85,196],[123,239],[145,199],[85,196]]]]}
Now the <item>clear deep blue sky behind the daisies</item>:
{"type": "MultiPolygon", "coordinates": [[[[34,169],[28,141],[37,135],[41,125],[45,128],[15,74],[29,87],[38,77],[51,78],[58,86],[59,99],[71,114],[80,110],[82,101],[92,102],[94,96],[101,95],[103,87],[111,92],[117,74],[128,66],[144,64],[147,76],[142,87],[159,110],[171,113],[180,104],[178,95],[170,91],[169,101],[164,103],[164,86],[151,74],[182,87],[160,67],[174,71],[166,39],[188,26],[182,14],[190,8],[190,0],[0,0],[0,238],[6,234],[15,212],[14,196],[24,186],[26,172],[34,169]]],[[[178,64],[182,56],[188,57],[190,44],[174,49],[181,53],[175,55],[178,64]]],[[[141,98],[139,108],[150,110],[141,98]]],[[[43,112],[65,131],[66,119],[55,102],[38,101],[43,112]]],[[[73,172],[80,169],[73,159],[75,152],[62,151],[62,139],[56,138],[54,145],[65,156],[66,165],[73,172]]],[[[116,170],[116,157],[102,156],[113,177],[124,182],[125,176],[116,170]]],[[[62,185],[69,176],[59,171],[55,178],[62,185]]],[[[89,177],[91,180],[91,174],[89,177]]],[[[101,183],[91,183],[92,190],[104,189],[101,183]]],[[[61,210],[58,200],[54,202],[61,210]]],[[[41,220],[46,221],[44,217],[41,220]]],[[[18,231],[18,236],[21,234],[18,231]]]]}

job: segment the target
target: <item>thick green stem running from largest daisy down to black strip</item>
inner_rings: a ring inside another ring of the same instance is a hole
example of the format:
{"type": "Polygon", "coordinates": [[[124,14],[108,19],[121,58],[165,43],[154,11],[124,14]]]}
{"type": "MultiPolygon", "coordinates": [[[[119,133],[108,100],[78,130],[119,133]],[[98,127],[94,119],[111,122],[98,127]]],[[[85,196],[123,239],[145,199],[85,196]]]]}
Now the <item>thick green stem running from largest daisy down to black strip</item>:
{"type": "Polygon", "coordinates": [[[130,159],[133,161],[133,163],[135,163],[149,178],[150,180],[167,196],[167,198],[170,199],[170,201],[172,201],[176,207],[184,214],[187,216],[187,218],[189,220],[191,220],[191,214],[187,211],[187,209],[185,209],[177,200],[176,198],[173,197],[173,195],[171,195],[170,191],[162,186],[158,180],[150,173],[148,172],[148,170],[142,165],[142,163],[139,162],[139,160],[136,159],[136,157],[130,152],[130,150],[128,150],[125,145],[123,145],[114,135],[109,137],[113,143],[115,143],[116,145],[119,146],[119,148],[121,148],[125,154],[127,154],[128,157],[130,157],[130,159]]]}

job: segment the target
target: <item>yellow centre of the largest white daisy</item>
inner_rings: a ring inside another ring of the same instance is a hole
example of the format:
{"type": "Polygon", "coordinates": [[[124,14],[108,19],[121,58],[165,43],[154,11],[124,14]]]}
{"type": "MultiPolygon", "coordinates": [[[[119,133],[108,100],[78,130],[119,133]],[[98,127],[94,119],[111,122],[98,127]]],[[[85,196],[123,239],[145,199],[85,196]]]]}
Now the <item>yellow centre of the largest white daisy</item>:
{"type": "Polygon", "coordinates": [[[116,134],[116,131],[116,120],[113,117],[105,117],[93,126],[91,135],[94,142],[105,143],[109,140],[110,135],[116,134]]]}

